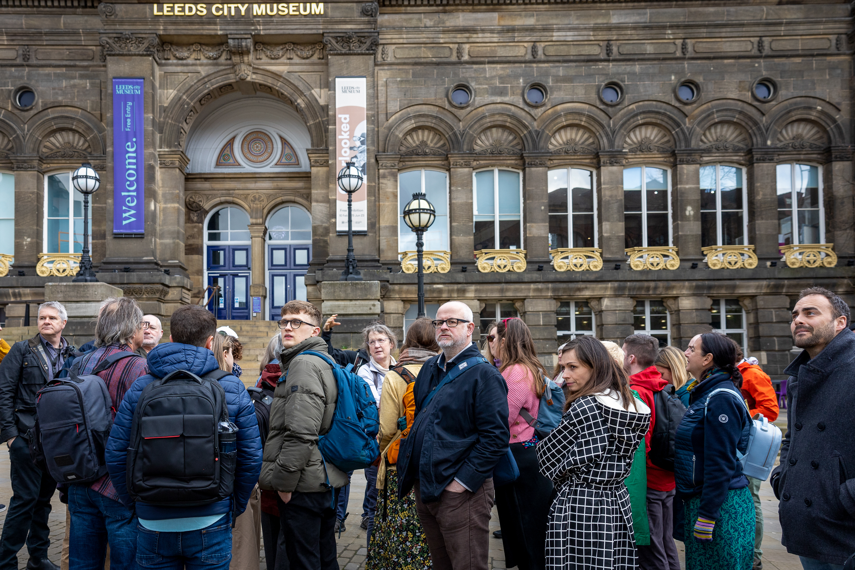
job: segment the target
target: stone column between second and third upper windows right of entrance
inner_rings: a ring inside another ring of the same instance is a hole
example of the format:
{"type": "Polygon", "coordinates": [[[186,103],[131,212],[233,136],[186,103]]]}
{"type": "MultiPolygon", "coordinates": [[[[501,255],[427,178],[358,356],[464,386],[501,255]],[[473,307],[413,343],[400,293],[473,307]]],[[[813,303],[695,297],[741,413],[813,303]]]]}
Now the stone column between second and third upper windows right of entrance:
{"type": "Polygon", "coordinates": [[[526,250],[528,271],[537,271],[538,265],[549,267],[549,156],[547,152],[527,152],[524,155],[525,205],[522,217],[526,241],[522,249],[526,250]]]}

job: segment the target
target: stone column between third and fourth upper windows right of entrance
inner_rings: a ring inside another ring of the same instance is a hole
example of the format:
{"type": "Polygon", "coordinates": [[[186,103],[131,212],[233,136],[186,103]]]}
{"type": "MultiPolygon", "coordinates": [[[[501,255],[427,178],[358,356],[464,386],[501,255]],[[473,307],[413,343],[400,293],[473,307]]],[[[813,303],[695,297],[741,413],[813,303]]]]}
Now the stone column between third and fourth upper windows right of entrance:
{"type": "MultiPolygon", "coordinates": [[[[625,263],[623,250],[623,156],[622,150],[599,153],[599,176],[597,177],[597,231],[599,247],[603,250],[603,261],[625,263]]],[[[630,312],[632,307],[629,308],[630,312]]],[[[632,320],[630,320],[630,323],[632,320]]],[[[630,333],[632,334],[632,333],[630,333]]],[[[624,335],[626,336],[626,335],[624,335]]]]}

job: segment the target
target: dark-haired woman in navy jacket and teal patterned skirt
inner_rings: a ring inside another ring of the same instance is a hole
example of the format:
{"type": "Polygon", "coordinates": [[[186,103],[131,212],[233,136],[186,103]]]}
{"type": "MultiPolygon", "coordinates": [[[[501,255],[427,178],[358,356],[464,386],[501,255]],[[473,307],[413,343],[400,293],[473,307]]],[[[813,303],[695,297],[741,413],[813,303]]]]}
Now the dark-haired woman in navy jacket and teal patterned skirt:
{"type": "Polygon", "coordinates": [[[689,408],[677,428],[675,479],[685,505],[687,570],[751,570],[754,502],[737,456],[751,418],[740,394],[736,343],[715,332],[686,350],[689,408]]]}

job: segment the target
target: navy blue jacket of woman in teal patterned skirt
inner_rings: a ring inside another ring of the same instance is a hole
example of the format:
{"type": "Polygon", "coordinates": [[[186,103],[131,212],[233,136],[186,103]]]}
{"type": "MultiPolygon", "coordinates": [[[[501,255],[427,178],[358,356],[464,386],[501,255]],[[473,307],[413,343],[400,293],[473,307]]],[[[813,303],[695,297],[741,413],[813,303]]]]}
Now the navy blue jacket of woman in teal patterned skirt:
{"type": "Polygon", "coordinates": [[[698,516],[718,520],[728,491],[748,485],[736,456],[737,448],[741,453],[748,449],[748,408],[730,374],[722,370],[695,386],[691,394],[675,441],[677,493],[684,501],[700,495],[698,516]],[[707,396],[718,388],[727,388],[733,395],[719,392],[711,397],[704,415],[707,396]]]}

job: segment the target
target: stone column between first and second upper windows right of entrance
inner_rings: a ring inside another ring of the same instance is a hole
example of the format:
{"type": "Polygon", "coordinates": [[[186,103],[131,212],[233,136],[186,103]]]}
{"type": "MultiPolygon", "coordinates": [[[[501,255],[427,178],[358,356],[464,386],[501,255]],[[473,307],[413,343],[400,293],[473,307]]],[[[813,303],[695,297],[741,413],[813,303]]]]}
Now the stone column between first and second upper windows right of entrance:
{"type": "MultiPolygon", "coordinates": [[[[448,214],[451,217],[451,271],[460,271],[466,265],[469,271],[475,268],[475,237],[472,217],[472,157],[468,154],[449,155],[451,172],[449,173],[449,203],[453,207],[448,214]]],[[[481,309],[475,311],[478,313],[481,309]]]]}

